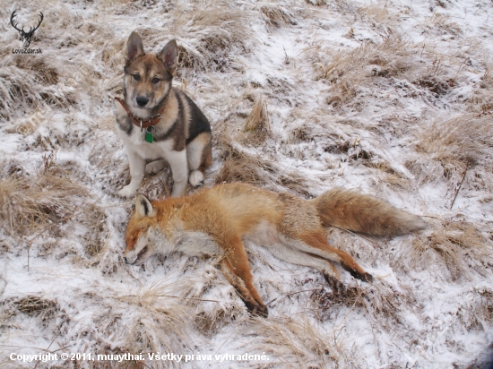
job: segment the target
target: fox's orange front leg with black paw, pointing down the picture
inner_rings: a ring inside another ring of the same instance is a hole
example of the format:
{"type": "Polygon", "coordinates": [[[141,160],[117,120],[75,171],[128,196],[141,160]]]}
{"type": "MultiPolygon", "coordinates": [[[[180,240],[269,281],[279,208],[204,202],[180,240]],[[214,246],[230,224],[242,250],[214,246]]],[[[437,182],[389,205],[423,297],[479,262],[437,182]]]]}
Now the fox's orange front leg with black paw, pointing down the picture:
{"type": "Polygon", "coordinates": [[[252,283],[247,253],[239,238],[229,241],[225,257],[221,260],[221,270],[229,283],[237,289],[248,310],[256,315],[267,316],[267,307],[252,283]]]}

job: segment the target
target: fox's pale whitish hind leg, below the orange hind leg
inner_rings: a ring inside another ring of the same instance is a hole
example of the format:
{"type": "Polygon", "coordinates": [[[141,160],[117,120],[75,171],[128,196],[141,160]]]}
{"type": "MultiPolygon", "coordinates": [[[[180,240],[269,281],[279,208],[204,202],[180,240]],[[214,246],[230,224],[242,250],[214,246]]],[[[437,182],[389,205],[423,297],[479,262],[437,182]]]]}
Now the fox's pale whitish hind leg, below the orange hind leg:
{"type": "Polygon", "coordinates": [[[324,274],[324,279],[329,283],[330,287],[333,289],[333,292],[336,294],[342,293],[344,290],[344,285],[342,284],[339,277],[339,272],[335,269],[333,263],[316,255],[315,253],[307,253],[305,251],[298,250],[298,247],[292,245],[293,243],[300,243],[300,241],[290,239],[290,241],[286,242],[286,244],[289,245],[278,244],[274,247],[269,247],[269,251],[274,256],[285,262],[303,265],[322,271],[324,274]]]}

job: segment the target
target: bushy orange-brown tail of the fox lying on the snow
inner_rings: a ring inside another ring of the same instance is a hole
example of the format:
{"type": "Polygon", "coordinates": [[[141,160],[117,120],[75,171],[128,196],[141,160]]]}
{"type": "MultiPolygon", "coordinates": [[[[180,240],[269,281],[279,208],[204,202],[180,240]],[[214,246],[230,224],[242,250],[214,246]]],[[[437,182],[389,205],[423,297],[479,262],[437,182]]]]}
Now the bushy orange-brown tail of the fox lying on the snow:
{"type": "Polygon", "coordinates": [[[398,236],[428,227],[419,217],[368,194],[334,188],[310,200],[324,227],[335,226],[372,236],[398,236]]]}

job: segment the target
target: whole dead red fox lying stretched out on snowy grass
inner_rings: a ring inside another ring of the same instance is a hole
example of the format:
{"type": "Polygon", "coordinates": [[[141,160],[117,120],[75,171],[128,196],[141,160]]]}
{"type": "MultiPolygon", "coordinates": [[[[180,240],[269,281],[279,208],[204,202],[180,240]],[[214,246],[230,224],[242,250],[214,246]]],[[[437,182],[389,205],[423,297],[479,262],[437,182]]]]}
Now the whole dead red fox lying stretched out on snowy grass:
{"type": "Polygon", "coordinates": [[[243,242],[264,245],[286,262],[321,270],[334,292],[342,291],[332,262],[364,281],[371,274],[348,253],[329,245],[324,227],[393,236],[428,227],[419,217],[373,196],[333,189],[316,199],[273,193],[252,185],[216,185],[192,195],[149,201],[139,194],[125,234],[125,262],[141,264],[152,254],[221,255],[221,270],[251,313],[267,308],[253,285],[243,242]]]}

